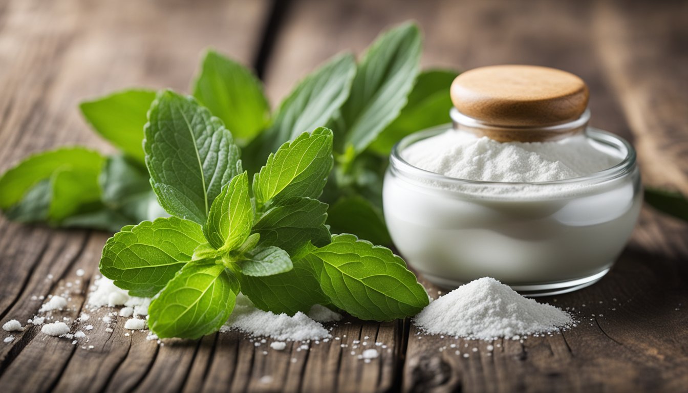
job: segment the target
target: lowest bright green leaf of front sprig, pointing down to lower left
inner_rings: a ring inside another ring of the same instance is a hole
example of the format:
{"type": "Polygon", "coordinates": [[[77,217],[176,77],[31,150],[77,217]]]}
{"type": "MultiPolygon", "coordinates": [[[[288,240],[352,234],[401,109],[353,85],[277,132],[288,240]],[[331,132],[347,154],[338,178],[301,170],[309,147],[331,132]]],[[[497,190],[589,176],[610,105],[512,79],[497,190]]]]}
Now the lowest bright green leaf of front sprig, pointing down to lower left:
{"type": "Polygon", "coordinates": [[[227,321],[239,293],[230,270],[214,261],[186,264],[151,301],[148,325],[160,338],[197,339],[227,321]]]}

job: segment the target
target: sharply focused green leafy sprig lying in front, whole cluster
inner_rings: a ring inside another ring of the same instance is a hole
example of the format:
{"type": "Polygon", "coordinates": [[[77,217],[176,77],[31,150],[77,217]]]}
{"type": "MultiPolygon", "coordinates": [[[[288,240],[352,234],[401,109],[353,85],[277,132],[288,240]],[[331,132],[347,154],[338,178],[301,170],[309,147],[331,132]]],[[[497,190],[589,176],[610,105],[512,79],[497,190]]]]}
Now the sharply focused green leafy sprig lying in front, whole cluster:
{"type": "Polygon", "coordinates": [[[427,306],[388,248],[330,235],[327,204],[316,199],[333,165],[330,129],[284,143],[249,184],[233,135],[195,98],[162,91],[148,118],[145,162],[171,217],[122,228],[100,272],[131,295],[155,296],[149,327],[159,337],[215,332],[239,291],[291,315],[325,304],[383,321],[427,306]]]}

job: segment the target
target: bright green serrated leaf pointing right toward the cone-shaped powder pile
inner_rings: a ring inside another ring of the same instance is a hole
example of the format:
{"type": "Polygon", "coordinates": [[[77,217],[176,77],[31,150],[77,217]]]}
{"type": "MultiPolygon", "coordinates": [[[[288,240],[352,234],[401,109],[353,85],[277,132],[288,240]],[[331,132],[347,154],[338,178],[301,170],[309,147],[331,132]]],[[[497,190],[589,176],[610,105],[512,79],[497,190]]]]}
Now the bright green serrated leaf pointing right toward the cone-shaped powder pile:
{"type": "Polygon", "coordinates": [[[404,260],[354,235],[334,235],[311,251],[321,261],[319,282],[332,304],[360,319],[389,321],[416,315],[428,295],[404,260]]]}

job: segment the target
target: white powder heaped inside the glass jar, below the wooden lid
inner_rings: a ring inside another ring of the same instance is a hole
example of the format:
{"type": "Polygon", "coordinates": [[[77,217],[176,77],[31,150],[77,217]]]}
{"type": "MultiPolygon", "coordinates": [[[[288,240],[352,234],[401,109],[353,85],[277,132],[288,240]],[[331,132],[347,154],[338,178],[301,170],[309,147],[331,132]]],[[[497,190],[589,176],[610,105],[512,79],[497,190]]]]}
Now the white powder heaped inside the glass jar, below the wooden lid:
{"type": "Polygon", "coordinates": [[[620,158],[594,147],[585,136],[553,142],[497,142],[466,131],[447,132],[407,147],[415,167],[450,178],[486,182],[548,182],[590,175],[620,158]]]}

